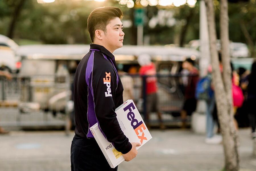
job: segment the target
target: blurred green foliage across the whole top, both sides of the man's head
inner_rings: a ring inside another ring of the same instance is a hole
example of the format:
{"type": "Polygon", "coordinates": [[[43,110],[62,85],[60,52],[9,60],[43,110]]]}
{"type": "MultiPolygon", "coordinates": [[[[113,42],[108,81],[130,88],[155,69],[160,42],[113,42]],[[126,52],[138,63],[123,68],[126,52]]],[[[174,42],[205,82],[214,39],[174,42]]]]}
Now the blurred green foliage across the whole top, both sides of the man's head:
{"type": "MultiPolygon", "coordinates": [[[[9,29],[13,12],[20,0],[0,0],[0,34],[6,35],[9,29]]],[[[214,1],[216,9],[216,28],[219,35],[219,2],[214,1]]],[[[123,20],[133,21],[133,10],[121,6],[114,0],[104,2],[56,0],[54,3],[39,4],[36,0],[25,0],[14,30],[15,40],[30,39],[46,44],[89,44],[90,36],[87,31],[87,18],[90,12],[102,6],[116,6],[124,13],[123,20]]],[[[184,43],[199,38],[199,13],[200,1],[194,8],[187,5],[181,7],[159,6],[146,7],[146,23],[144,35],[150,36],[150,44],[172,44],[186,23],[188,26],[184,32],[184,43]],[[157,23],[156,27],[149,27],[153,17],[157,17],[159,10],[171,11],[174,17],[174,25],[168,25],[170,17],[165,17],[164,24],[157,23]],[[189,21],[188,21],[189,20],[189,21]]],[[[241,21],[244,22],[251,39],[256,40],[256,2],[229,3],[230,39],[235,42],[246,42],[241,32],[241,21]]],[[[124,28],[124,44],[136,42],[136,27],[124,28]],[[134,41],[135,40],[135,41],[134,41]]]]}

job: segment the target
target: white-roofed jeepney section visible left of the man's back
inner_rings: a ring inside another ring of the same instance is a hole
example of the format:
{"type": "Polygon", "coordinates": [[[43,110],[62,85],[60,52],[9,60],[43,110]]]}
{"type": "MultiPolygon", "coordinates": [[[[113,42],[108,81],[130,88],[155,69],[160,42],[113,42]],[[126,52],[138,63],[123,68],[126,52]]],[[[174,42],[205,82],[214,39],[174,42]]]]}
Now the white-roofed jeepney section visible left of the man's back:
{"type": "Polygon", "coordinates": [[[20,46],[20,111],[43,109],[54,115],[65,113],[71,99],[70,75],[88,49],[89,45],[20,46]]]}

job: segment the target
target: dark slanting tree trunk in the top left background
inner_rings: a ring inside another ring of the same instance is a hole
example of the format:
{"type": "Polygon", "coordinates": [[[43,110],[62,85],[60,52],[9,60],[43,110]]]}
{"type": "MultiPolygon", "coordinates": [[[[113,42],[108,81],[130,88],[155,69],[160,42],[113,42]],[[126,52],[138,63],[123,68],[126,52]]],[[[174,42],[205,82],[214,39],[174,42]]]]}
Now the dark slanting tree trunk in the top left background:
{"type": "Polygon", "coordinates": [[[18,17],[19,17],[19,14],[20,14],[20,11],[22,9],[22,6],[24,4],[26,0],[20,0],[20,3],[15,7],[14,9],[14,12],[13,12],[13,16],[12,16],[12,19],[11,19],[11,23],[9,25],[9,29],[8,29],[8,34],[7,36],[9,38],[13,38],[13,33],[14,33],[14,28],[15,28],[15,24],[18,20],[18,17]]]}

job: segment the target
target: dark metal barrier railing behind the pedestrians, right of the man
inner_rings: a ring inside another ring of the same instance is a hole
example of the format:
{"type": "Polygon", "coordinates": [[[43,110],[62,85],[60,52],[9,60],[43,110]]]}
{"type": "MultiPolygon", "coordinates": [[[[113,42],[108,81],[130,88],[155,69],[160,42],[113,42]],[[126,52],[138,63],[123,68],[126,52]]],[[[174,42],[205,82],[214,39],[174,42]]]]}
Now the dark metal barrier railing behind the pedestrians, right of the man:
{"type": "MultiPolygon", "coordinates": [[[[122,81],[122,73],[120,74],[122,81]]],[[[160,113],[165,115],[162,122],[177,123],[182,121],[180,112],[184,103],[184,84],[188,77],[194,77],[197,75],[184,75],[184,74],[156,74],[156,75],[140,75],[140,74],[123,74],[124,76],[130,76],[133,79],[133,101],[137,104],[137,108],[140,113],[144,116],[144,121],[148,123],[158,123],[158,119],[147,120],[147,93],[146,93],[146,79],[156,78],[157,80],[157,96],[158,96],[158,108],[160,113]],[[137,90],[137,91],[135,91],[137,90]],[[139,92],[139,95],[136,94],[139,92]]],[[[123,82],[123,81],[122,81],[123,82]]],[[[123,83],[125,84],[125,83],[123,83]]],[[[124,89],[125,89],[125,85],[124,89]]],[[[126,99],[124,99],[126,100],[126,99]]],[[[190,119],[188,118],[187,121],[190,119]]]]}

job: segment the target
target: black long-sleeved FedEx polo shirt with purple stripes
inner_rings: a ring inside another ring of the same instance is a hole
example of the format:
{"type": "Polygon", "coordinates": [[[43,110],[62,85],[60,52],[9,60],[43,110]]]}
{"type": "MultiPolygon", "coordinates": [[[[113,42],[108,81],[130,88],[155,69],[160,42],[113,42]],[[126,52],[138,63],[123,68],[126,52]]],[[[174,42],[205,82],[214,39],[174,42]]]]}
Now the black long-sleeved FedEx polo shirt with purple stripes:
{"type": "Polygon", "coordinates": [[[103,135],[123,154],[132,148],[116,118],[115,108],[123,103],[123,85],[114,55],[104,46],[90,44],[74,78],[75,134],[94,138],[89,128],[98,123],[103,135]]]}

